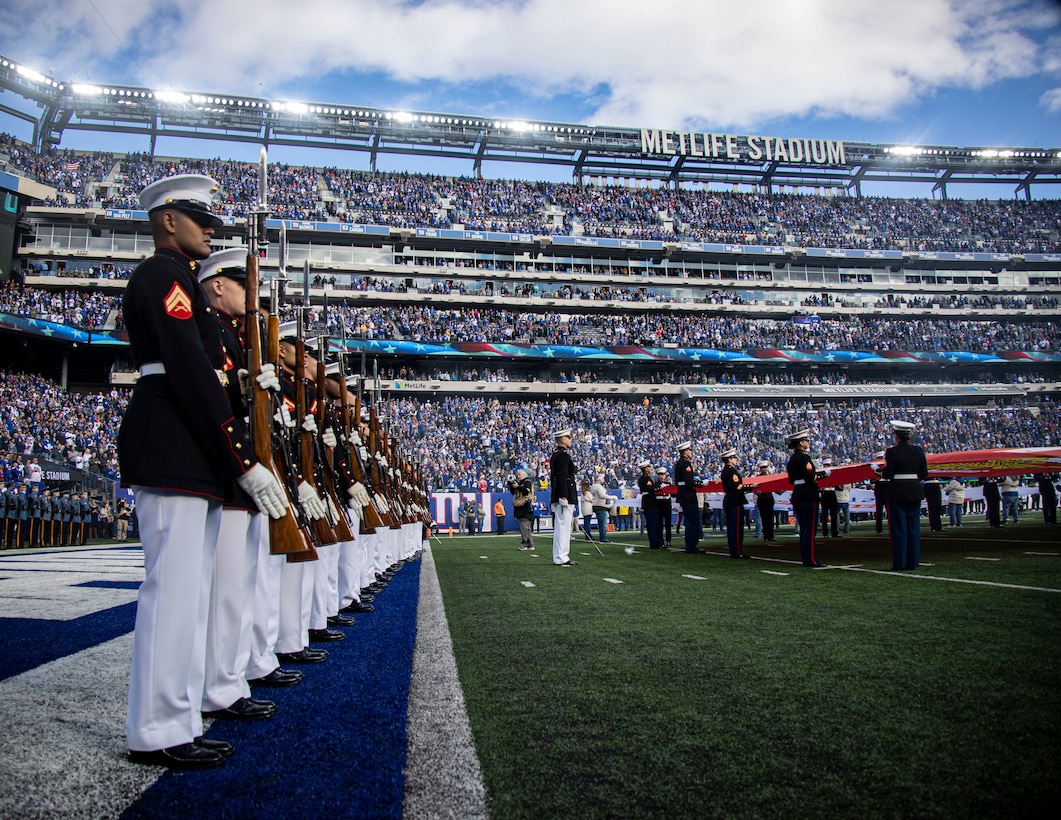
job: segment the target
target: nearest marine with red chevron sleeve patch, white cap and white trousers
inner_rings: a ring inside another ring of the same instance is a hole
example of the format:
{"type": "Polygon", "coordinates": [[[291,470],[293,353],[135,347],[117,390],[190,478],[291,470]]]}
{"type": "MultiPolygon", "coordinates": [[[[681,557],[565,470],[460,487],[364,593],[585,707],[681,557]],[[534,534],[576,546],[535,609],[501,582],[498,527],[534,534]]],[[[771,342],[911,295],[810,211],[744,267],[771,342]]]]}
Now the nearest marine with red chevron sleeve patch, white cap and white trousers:
{"type": "Polygon", "coordinates": [[[221,225],[211,210],[216,190],[213,179],[185,174],[141,192],[155,255],[133,272],[122,303],[140,379],[119,430],[118,458],[136,498],[145,572],[125,734],[132,761],[171,768],[215,766],[232,751],[202,738],[222,502],[234,499],[239,484],[271,514],[286,506],[232,413],[218,318],[197,280],[221,225]]]}

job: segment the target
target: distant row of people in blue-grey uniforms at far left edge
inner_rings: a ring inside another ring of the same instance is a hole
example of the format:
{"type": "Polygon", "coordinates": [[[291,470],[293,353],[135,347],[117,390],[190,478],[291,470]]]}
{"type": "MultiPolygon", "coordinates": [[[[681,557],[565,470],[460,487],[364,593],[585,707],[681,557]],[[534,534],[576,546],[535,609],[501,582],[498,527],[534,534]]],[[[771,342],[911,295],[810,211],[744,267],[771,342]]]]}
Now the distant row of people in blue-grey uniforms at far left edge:
{"type": "Polygon", "coordinates": [[[0,547],[85,544],[94,514],[88,492],[13,485],[0,491],[0,547]]]}

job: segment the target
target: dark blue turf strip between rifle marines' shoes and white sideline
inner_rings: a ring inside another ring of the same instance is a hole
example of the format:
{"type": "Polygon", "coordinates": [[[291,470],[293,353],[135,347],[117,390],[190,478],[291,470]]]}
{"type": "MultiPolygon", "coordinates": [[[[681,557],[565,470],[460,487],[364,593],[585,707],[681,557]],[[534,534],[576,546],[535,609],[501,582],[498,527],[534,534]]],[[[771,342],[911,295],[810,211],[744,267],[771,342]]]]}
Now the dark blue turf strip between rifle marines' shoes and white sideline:
{"type": "Polygon", "coordinates": [[[254,691],[276,702],[275,717],[213,722],[207,737],[237,749],[223,766],[163,773],[122,818],[401,818],[419,589],[416,561],[345,641],[315,644],[331,657],[296,667],[300,684],[254,691]]]}

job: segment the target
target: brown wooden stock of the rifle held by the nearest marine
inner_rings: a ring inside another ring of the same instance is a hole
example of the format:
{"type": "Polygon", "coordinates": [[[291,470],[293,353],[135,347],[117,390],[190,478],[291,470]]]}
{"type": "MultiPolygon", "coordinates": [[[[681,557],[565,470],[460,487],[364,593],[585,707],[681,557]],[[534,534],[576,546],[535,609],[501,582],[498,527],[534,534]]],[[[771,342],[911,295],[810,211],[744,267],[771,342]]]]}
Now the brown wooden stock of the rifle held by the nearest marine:
{"type": "MultiPolygon", "coordinates": [[[[286,487],[273,459],[273,397],[268,390],[258,386],[258,376],[262,370],[262,335],[258,311],[258,258],[247,255],[246,316],[244,332],[245,356],[250,382],[250,436],[254,441],[255,458],[271,470],[281,485],[286,487]]],[[[291,499],[289,499],[289,502],[291,499]]],[[[294,509],[288,506],[283,518],[268,519],[268,551],[272,555],[300,553],[309,544],[307,534],[298,526],[294,509]]]]}

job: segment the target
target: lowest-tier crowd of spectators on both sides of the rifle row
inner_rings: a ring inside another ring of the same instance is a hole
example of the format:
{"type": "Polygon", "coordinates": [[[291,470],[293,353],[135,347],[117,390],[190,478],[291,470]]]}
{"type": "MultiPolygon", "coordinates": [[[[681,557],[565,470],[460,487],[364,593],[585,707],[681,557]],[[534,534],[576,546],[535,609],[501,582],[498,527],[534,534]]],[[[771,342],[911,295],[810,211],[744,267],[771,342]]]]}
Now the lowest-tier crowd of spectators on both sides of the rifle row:
{"type": "MultiPolygon", "coordinates": [[[[127,403],[125,391],[71,394],[40,376],[0,370],[0,453],[39,456],[118,477],[116,436],[127,403]]],[[[1061,446],[1061,413],[1049,401],[1036,406],[915,407],[885,400],[787,401],[749,407],[732,403],[679,404],[663,399],[577,402],[500,401],[451,397],[441,401],[390,400],[381,408],[403,452],[421,464],[432,488],[503,487],[524,467],[547,474],[552,431],[576,429],[573,456],[587,474],[607,472],[613,487],[633,482],[642,458],[674,461],[674,444],[696,442],[709,476],[717,454],[736,447],[742,461],[785,463],[784,434],[810,428],[813,450],[837,464],[862,461],[890,441],[888,419],[916,421],[928,452],[997,447],[1061,446]]]]}

